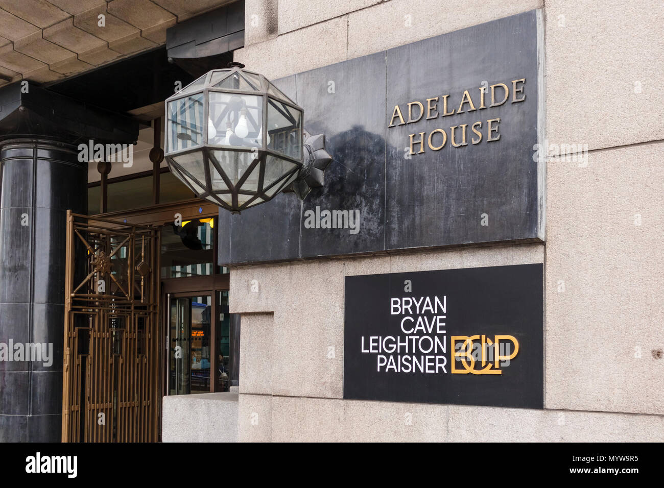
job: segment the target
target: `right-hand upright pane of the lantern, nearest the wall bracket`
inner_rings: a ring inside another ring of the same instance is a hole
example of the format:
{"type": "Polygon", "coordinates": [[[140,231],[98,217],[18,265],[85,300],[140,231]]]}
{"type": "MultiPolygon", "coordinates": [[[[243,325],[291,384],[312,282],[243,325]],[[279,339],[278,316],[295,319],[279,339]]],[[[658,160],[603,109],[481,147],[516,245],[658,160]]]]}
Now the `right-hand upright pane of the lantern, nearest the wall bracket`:
{"type": "Polygon", "coordinates": [[[302,152],[302,112],[268,98],[268,149],[278,151],[293,159],[300,159],[302,152]]]}

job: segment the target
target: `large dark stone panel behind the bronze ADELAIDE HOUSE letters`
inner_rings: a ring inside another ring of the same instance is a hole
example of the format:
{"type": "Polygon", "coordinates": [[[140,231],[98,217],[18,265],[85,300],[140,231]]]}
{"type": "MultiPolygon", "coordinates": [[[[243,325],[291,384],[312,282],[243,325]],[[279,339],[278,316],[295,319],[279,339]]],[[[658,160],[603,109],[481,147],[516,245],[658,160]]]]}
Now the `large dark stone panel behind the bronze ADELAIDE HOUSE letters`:
{"type": "Polygon", "coordinates": [[[533,157],[534,146],[542,143],[540,16],[529,11],[274,80],[304,108],[305,130],[325,134],[333,161],[325,186],[304,201],[284,193],[241,214],[220,210],[219,262],[540,241],[543,173],[533,157]],[[508,100],[491,108],[487,102],[486,110],[466,105],[453,116],[425,115],[388,127],[396,105],[407,118],[408,102],[426,106],[427,98],[441,97],[442,114],[446,94],[450,110],[458,109],[464,90],[478,106],[480,86],[507,84],[511,99],[511,83],[521,78],[521,103],[508,100]],[[497,118],[500,140],[487,142],[487,120],[497,118]],[[477,145],[471,144],[475,121],[483,122],[477,145]],[[452,147],[450,126],[461,124],[467,126],[467,147],[452,147]],[[447,131],[442,150],[404,157],[410,133],[417,139],[436,129],[447,131]],[[359,212],[359,231],[311,228],[319,210],[359,212]],[[488,225],[481,224],[484,214],[488,225]]]}

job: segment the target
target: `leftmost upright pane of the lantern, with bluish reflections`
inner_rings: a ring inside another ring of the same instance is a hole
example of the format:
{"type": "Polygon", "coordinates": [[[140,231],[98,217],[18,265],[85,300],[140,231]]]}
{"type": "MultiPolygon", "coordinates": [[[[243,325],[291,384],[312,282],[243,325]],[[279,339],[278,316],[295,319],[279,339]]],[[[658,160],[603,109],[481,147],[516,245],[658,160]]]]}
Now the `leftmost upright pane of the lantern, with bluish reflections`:
{"type": "Polygon", "coordinates": [[[167,153],[203,143],[203,94],[173,100],[168,104],[167,153]]]}

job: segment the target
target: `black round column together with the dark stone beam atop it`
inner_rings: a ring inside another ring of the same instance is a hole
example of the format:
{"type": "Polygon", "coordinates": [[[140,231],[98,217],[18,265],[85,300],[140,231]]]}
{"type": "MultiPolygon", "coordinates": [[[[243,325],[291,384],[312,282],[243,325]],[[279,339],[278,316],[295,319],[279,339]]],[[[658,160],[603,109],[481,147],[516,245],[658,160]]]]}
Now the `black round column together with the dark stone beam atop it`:
{"type": "Polygon", "coordinates": [[[50,366],[0,361],[0,442],[60,441],[66,211],[88,206],[77,147],[137,136],[125,114],[32,82],[0,88],[0,343],[53,347],[50,366]]]}

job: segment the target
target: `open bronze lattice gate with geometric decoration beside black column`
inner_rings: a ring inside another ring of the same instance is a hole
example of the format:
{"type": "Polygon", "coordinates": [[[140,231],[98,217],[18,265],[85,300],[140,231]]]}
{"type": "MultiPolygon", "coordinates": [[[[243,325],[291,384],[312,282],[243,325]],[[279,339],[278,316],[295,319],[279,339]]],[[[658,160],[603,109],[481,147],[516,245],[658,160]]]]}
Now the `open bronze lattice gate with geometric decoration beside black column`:
{"type": "Polygon", "coordinates": [[[67,212],[62,442],[159,439],[159,232],[67,212]]]}

